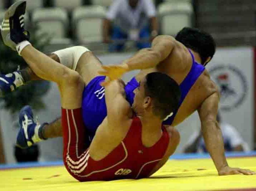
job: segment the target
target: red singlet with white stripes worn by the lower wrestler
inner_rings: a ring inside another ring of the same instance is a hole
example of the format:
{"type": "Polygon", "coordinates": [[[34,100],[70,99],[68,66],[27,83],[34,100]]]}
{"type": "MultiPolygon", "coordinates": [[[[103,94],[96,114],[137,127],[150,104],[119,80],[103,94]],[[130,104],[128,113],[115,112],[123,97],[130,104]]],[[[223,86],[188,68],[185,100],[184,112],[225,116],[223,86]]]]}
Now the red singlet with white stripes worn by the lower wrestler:
{"type": "Polygon", "coordinates": [[[159,141],[152,147],[142,144],[142,124],[134,117],[127,135],[104,159],[94,161],[90,148],[84,145],[85,128],[81,109],[62,109],[64,127],[64,164],[69,173],[79,181],[116,180],[122,178],[145,178],[163,158],[169,144],[165,128],[159,141]]]}

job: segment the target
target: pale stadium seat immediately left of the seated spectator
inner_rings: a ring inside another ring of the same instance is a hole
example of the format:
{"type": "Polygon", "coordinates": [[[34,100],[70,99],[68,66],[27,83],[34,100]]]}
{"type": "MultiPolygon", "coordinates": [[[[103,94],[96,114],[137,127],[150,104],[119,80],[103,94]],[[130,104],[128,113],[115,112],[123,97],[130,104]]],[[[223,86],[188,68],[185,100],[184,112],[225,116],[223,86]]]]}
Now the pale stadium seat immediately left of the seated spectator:
{"type": "Polygon", "coordinates": [[[99,5],[83,6],[73,11],[72,22],[77,39],[82,42],[102,41],[102,19],[106,9],[99,5]]]}

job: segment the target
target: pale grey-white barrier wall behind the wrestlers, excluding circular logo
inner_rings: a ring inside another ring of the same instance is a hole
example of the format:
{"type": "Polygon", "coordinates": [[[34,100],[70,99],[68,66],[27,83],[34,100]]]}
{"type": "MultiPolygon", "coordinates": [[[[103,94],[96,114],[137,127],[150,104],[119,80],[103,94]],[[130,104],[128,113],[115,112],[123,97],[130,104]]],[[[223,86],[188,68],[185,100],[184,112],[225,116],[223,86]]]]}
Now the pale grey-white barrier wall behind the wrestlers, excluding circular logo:
{"type": "MultiPolygon", "coordinates": [[[[99,56],[100,60],[108,64],[117,64],[122,62],[122,60],[132,56],[131,53],[128,54],[110,54],[99,56]]],[[[229,87],[234,89],[237,92],[237,97],[228,96],[226,100],[221,102],[221,114],[224,121],[232,124],[237,128],[241,133],[242,137],[247,140],[250,147],[252,148],[253,141],[253,52],[250,47],[239,47],[239,48],[219,48],[213,58],[213,60],[207,66],[207,70],[213,70],[214,68],[219,67],[211,72],[212,78],[215,80],[216,77],[225,74],[228,76],[227,80],[222,80],[221,83],[229,83],[229,87]],[[231,66],[230,68],[221,68],[222,66],[231,66]],[[237,72],[232,70],[236,69],[237,72]],[[235,105],[237,100],[241,98],[242,93],[244,92],[243,83],[241,81],[241,75],[244,76],[247,84],[247,91],[244,97],[244,100],[241,101],[241,104],[237,107],[232,108],[231,110],[224,110],[229,108],[231,105],[235,105]],[[223,109],[224,108],[224,109],[223,109]]],[[[124,81],[127,82],[138,71],[133,71],[124,76],[124,81]]],[[[60,99],[58,88],[56,84],[52,83],[51,90],[44,97],[45,102],[47,103],[47,109],[37,113],[40,122],[51,121],[56,117],[60,116],[60,99]]],[[[13,146],[16,140],[17,129],[13,128],[13,117],[10,116],[9,112],[6,110],[0,110],[0,125],[2,128],[2,135],[4,139],[4,149],[6,161],[8,163],[14,163],[13,157],[13,146]]],[[[180,153],[184,144],[188,140],[189,135],[192,134],[193,130],[200,127],[200,121],[198,119],[197,113],[191,115],[187,120],[182,124],[178,125],[177,128],[181,134],[181,143],[176,151],[180,153]]],[[[62,139],[51,139],[45,142],[41,142],[41,161],[46,160],[59,160],[62,157],[62,139]]]]}

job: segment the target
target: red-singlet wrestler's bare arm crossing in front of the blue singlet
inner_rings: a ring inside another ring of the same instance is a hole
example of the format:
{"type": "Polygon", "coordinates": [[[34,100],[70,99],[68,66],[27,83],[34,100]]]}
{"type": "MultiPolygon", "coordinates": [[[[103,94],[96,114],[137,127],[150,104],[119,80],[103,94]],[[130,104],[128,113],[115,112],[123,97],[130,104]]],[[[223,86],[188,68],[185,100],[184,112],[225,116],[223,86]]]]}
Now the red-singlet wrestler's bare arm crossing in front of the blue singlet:
{"type": "Polygon", "coordinates": [[[125,100],[123,87],[124,85],[118,80],[113,80],[105,86],[107,116],[97,128],[90,145],[90,155],[95,160],[104,158],[99,156],[99,149],[102,151],[102,149],[108,150],[109,147],[115,148],[124,137],[123,130],[131,125],[129,118],[131,106],[125,100]]]}

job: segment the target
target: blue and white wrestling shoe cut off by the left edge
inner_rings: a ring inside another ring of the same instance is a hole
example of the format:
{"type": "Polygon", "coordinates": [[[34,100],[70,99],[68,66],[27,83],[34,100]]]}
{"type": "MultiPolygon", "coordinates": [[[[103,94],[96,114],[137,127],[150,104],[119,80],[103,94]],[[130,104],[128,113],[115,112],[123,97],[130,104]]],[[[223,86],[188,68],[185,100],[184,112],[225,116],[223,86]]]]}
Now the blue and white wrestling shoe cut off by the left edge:
{"type": "Polygon", "coordinates": [[[6,94],[17,89],[17,87],[24,84],[23,77],[20,71],[8,73],[6,75],[0,75],[0,97],[4,97],[6,94]]]}

